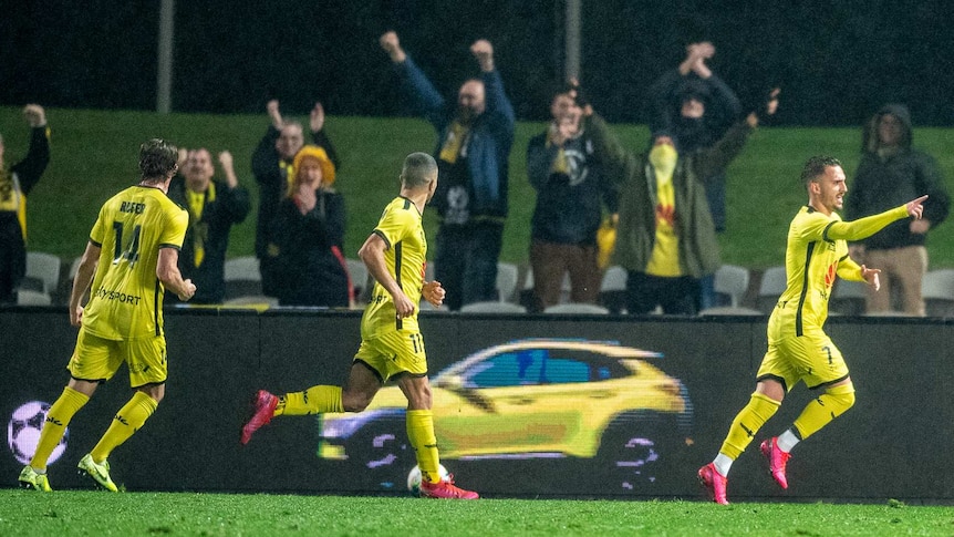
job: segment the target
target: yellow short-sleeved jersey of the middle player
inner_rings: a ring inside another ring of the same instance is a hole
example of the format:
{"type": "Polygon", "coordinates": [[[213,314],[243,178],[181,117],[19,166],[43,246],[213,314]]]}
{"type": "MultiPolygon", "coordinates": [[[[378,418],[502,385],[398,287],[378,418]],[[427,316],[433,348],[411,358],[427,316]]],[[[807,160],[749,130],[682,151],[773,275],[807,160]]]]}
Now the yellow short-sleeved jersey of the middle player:
{"type": "MultiPolygon", "coordinates": [[[[419,303],[427,262],[427,239],[417,206],[407,198],[394,198],[384,208],[373,233],[387,244],[384,252],[387,271],[411,302],[419,303]]],[[[411,317],[397,319],[391,293],[375,282],[371,302],[361,319],[361,338],[369,340],[397,330],[417,331],[417,310],[411,317]]]]}

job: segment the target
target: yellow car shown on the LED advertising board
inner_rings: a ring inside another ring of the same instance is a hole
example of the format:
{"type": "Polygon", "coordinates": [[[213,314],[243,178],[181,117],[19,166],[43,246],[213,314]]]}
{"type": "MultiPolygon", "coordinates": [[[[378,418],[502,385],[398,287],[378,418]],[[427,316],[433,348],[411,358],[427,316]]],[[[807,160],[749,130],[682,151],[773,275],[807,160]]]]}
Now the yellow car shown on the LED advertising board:
{"type": "MultiPolygon", "coordinates": [[[[595,458],[623,488],[654,479],[661,440],[691,443],[683,383],[651,364],[657,352],[610,341],[528,339],[480,350],[432,379],[442,461],[595,458]]],[[[390,473],[414,465],[397,386],[357,414],[324,414],[319,451],[390,473]]]]}

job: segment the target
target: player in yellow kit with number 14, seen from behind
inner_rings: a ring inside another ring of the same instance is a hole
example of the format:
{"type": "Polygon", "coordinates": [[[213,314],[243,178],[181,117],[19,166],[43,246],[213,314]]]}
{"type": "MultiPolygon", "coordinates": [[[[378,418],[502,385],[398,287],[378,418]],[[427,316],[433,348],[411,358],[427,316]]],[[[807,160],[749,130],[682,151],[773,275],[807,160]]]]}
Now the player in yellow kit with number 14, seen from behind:
{"type": "Polygon", "coordinates": [[[177,158],[173,144],[156,138],[145,142],[139,147],[139,183],[100,209],[70,296],[70,322],[80,328],[66,368],[70,382],[50,407],[37,452],[20,473],[24,487],[51,490],[46,459],[96,386],[125,362],[133,397],[79,465],[100,486],[117,492],[106,457],[143,426],[163,399],[167,374],[164,289],[182,300],[196,292],[196,286],[183,280],[176,266],[189,215],[166,196],[177,158]],[[80,302],[87,289],[90,300],[84,308],[80,302]]]}

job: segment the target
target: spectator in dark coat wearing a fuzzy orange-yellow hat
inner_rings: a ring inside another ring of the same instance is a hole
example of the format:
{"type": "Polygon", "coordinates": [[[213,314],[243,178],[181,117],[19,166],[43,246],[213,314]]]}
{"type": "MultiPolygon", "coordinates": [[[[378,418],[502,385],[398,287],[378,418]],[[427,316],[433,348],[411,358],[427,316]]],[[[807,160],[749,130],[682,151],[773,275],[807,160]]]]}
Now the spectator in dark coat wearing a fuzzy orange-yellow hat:
{"type": "Polygon", "coordinates": [[[334,164],[323,148],[305,145],[291,174],[269,240],[279,304],[348,308],[353,297],[342,255],[344,198],[333,188],[334,164]]]}

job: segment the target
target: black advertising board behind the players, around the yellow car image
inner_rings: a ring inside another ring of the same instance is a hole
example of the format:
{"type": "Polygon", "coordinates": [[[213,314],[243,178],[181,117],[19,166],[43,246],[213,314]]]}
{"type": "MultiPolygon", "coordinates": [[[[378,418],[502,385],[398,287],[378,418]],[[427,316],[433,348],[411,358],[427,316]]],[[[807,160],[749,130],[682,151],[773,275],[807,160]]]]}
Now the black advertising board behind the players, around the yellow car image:
{"type": "MultiPolygon", "coordinates": [[[[442,463],[462,485],[488,497],[699,497],[696,469],[716,454],[754,390],[766,345],[765,322],[765,318],[422,314],[432,378],[475,352],[516,340],[616,341],[662,353],[645,362],[678,379],[692,403],[688,441],[681,436],[682,425],[668,420],[672,416],[636,412],[601,431],[601,454],[593,458],[442,463]],[[619,457],[631,454],[613,451],[620,447],[620,436],[612,434],[616,431],[659,437],[655,469],[634,478],[630,473],[635,466],[618,465],[619,457]],[[652,478],[645,478],[650,474],[652,478]]],[[[145,427],[111,456],[114,479],[139,490],[403,493],[404,468],[413,466],[414,457],[401,416],[382,421],[374,430],[393,434],[397,464],[403,466],[397,469],[319,458],[317,416],[278,417],[249,445],[238,442],[256,390],[280,394],[342,383],[360,342],[359,324],[360,312],[170,310],[166,399],[145,427]]],[[[796,386],[733,466],[729,496],[954,498],[954,488],[944,478],[952,471],[947,446],[954,440],[948,426],[954,421],[947,396],[954,373],[950,328],[951,321],[939,319],[829,321],[828,332],[851,369],[856,406],[796,447],[790,486],[782,492],[767,475],[758,443],[781,433],[816,395],[796,386]]],[[[27,401],[52,402],[59,396],[76,331],[61,308],[6,308],[0,309],[0,415],[7,421],[27,401]]],[[[121,369],[74,417],[69,447],[50,467],[54,488],[89,486],[76,476],[75,464],[128,400],[127,379],[121,369]]],[[[594,395],[599,388],[592,383],[594,395]]],[[[585,390],[572,393],[568,406],[601,404],[581,396],[585,390]]],[[[9,450],[4,453],[0,472],[12,485],[21,465],[9,450]]]]}

